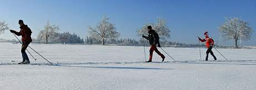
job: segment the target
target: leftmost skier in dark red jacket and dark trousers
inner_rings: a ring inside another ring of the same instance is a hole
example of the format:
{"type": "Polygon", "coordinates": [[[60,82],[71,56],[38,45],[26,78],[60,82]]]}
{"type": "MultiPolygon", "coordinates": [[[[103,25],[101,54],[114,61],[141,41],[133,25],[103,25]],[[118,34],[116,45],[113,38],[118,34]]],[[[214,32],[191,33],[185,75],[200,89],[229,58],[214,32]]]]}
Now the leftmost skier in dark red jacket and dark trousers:
{"type": "Polygon", "coordinates": [[[16,34],[18,36],[22,36],[21,54],[22,54],[23,61],[20,62],[19,64],[21,64],[21,63],[29,64],[30,61],[28,59],[28,55],[26,54],[26,49],[27,49],[29,43],[32,42],[32,39],[31,39],[32,31],[31,31],[30,28],[28,28],[27,25],[25,25],[23,23],[23,20],[19,20],[18,24],[20,26],[19,28],[21,29],[19,32],[14,31],[14,30],[10,30],[10,31],[11,31],[11,33],[14,33],[14,34],[16,34]]]}

